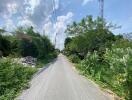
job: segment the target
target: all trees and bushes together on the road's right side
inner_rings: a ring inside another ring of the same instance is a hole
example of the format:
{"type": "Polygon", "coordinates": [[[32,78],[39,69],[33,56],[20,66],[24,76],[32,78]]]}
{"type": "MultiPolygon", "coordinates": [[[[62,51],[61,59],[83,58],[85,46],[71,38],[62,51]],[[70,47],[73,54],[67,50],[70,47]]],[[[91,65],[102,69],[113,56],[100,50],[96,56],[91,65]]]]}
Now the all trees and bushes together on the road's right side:
{"type": "Polygon", "coordinates": [[[105,84],[126,100],[132,99],[132,41],[114,35],[115,25],[87,16],[67,27],[64,53],[86,76],[105,84]]]}

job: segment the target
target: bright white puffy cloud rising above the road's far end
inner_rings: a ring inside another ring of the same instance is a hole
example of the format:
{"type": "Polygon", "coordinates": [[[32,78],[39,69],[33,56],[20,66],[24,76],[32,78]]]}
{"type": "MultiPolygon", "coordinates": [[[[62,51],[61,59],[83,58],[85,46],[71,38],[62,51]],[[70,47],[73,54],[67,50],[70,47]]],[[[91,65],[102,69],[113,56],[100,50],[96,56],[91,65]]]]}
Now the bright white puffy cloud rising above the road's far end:
{"type": "Polygon", "coordinates": [[[73,13],[68,12],[66,15],[58,16],[57,22],[52,23],[50,20],[44,25],[45,33],[50,37],[52,42],[55,42],[57,34],[56,48],[63,49],[66,34],[64,33],[67,24],[72,22],[73,13]]]}

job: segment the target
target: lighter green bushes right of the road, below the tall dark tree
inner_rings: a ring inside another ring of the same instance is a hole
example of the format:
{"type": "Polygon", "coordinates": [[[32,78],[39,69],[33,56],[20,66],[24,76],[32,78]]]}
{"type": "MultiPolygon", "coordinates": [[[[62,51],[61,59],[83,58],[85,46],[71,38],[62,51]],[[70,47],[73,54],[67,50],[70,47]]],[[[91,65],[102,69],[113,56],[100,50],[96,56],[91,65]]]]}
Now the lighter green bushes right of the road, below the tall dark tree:
{"type": "Polygon", "coordinates": [[[131,100],[132,94],[132,49],[106,49],[103,61],[97,52],[88,53],[79,68],[84,75],[90,75],[97,81],[105,83],[119,96],[131,100]]]}

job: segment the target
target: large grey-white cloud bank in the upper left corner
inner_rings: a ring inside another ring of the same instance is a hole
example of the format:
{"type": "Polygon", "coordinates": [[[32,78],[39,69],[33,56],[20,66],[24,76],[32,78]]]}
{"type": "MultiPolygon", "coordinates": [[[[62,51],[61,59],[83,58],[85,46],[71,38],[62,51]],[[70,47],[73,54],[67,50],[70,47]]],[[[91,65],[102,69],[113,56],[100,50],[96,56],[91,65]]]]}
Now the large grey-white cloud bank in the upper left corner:
{"type": "MultiPolygon", "coordinates": [[[[59,0],[55,0],[55,8],[59,8],[59,0]]],[[[0,0],[0,19],[28,16],[36,26],[42,27],[47,16],[53,12],[52,0],[0,0]]],[[[14,20],[14,19],[12,19],[14,20]]],[[[15,21],[17,24],[18,21],[15,21]]],[[[1,24],[3,26],[4,23],[1,24]]]]}

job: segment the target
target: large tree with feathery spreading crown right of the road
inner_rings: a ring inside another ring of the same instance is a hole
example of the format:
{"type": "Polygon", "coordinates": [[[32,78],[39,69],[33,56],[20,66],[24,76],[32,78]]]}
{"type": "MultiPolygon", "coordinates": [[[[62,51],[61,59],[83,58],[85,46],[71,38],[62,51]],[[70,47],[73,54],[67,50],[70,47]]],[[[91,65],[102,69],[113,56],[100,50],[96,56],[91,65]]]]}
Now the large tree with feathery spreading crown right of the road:
{"type": "MultiPolygon", "coordinates": [[[[108,23],[107,23],[108,24],[108,23]]],[[[66,31],[73,34],[72,38],[65,40],[65,52],[67,54],[77,54],[85,58],[88,51],[98,51],[103,55],[105,48],[111,48],[116,40],[116,36],[108,29],[104,19],[93,20],[91,16],[84,18],[79,23],[69,25],[66,31]],[[102,28],[102,25],[104,27],[102,28]]]]}

